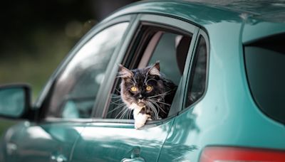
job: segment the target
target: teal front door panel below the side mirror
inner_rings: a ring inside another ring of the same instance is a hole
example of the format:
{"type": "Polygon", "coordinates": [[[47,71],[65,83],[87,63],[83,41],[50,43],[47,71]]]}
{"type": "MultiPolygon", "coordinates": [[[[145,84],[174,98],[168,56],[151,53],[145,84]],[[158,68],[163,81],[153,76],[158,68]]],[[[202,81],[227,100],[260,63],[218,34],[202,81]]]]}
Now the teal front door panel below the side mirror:
{"type": "Polygon", "coordinates": [[[74,123],[53,122],[16,124],[6,136],[5,161],[52,161],[58,157],[70,158],[73,144],[83,127],[74,123]]]}

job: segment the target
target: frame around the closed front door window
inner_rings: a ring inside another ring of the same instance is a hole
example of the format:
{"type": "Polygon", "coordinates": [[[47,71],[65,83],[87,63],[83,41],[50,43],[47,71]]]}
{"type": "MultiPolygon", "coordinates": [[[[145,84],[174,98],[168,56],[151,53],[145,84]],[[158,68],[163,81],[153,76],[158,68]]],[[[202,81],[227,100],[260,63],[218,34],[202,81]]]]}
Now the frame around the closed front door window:
{"type": "MultiPolygon", "coordinates": [[[[128,22],[129,23],[128,27],[126,28],[125,33],[123,34],[123,38],[122,38],[122,40],[125,40],[125,38],[128,35],[128,31],[130,31],[132,24],[135,21],[135,18],[136,18],[135,14],[130,14],[127,16],[116,17],[113,20],[108,21],[108,22],[99,23],[98,25],[94,26],[88,33],[86,33],[86,35],[83,36],[83,38],[81,38],[81,40],[78,41],[78,43],[73,48],[71,48],[71,51],[68,53],[66,58],[63,59],[62,63],[60,65],[58,65],[58,68],[56,68],[55,72],[53,72],[53,74],[49,78],[48,82],[46,83],[45,87],[43,88],[43,90],[41,92],[41,95],[39,95],[38,99],[36,100],[36,102],[33,106],[33,108],[36,109],[36,112],[37,112],[36,121],[90,121],[90,120],[92,120],[95,107],[98,107],[97,101],[100,100],[98,98],[95,99],[95,103],[94,103],[94,106],[92,109],[92,114],[90,114],[89,118],[85,118],[85,119],[84,118],[64,119],[64,118],[46,117],[46,113],[48,111],[48,104],[51,101],[53,86],[57,82],[58,77],[61,76],[61,73],[66,69],[66,66],[71,62],[73,57],[96,34],[105,30],[105,28],[109,28],[110,26],[114,26],[115,24],[128,22]]],[[[110,62],[108,63],[109,67],[110,67],[110,65],[113,64],[113,62],[115,62],[116,58],[119,57],[120,50],[122,48],[123,43],[124,43],[124,41],[121,41],[117,45],[117,47],[115,48],[113,56],[111,57],[110,62]]],[[[110,70],[108,70],[108,69],[110,69],[110,68],[106,69],[106,75],[108,75],[108,73],[110,72],[110,70]]],[[[106,78],[104,80],[106,80],[106,78]]],[[[101,87],[102,86],[100,86],[100,89],[101,89],[101,87]]],[[[100,92],[100,89],[98,90],[98,94],[100,92]]]]}

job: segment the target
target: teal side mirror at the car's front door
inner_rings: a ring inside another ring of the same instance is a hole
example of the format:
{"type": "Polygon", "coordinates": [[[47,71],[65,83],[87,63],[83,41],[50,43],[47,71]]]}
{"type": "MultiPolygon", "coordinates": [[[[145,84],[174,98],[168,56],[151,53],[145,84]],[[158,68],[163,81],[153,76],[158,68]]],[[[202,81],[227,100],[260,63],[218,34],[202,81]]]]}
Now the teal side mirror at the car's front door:
{"type": "Polygon", "coordinates": [[[0,86],[0,116],[22,118],[31,107],[31,88],[28,85],[0,86]]]}

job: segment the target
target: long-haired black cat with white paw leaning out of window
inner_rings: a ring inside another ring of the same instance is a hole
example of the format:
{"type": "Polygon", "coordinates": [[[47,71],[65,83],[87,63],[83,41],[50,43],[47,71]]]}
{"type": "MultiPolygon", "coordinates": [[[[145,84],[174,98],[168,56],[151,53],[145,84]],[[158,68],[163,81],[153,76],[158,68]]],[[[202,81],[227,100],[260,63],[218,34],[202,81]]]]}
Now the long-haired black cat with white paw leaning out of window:
{"type": "Polygon", "coordinates": [[[162,75],[159,62],[134,70],[120,65],[118,77],[122,78],[120,97],[133,110],[136,129],[147,120],[167,117],[177,85],[162,75]]]}

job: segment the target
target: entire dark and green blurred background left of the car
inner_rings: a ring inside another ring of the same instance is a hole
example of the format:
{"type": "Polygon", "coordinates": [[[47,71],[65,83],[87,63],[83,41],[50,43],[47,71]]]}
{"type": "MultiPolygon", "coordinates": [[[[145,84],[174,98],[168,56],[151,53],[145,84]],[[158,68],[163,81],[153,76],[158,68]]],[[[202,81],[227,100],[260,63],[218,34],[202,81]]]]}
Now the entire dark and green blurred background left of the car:
{"type": "MultiPolygon", "coordinates": [[[[0,85],[25,82],[33,101],[73,45],[111,12],[135,0],[4,1],[0,85]]],[[[16,121],[0,119],[0,134],[16,121]]]]}

